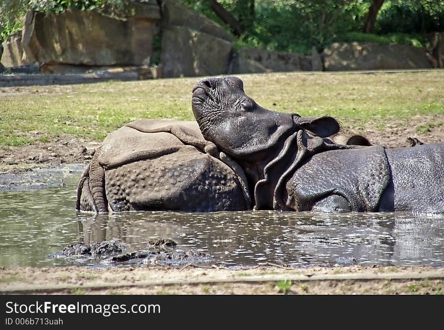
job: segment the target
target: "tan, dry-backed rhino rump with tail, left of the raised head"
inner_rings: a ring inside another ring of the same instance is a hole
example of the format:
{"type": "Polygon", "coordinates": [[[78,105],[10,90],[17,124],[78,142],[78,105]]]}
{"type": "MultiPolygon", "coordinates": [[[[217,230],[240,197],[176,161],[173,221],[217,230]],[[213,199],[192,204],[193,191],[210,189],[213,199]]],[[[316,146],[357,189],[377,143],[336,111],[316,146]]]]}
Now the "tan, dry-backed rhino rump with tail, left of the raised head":
{"type": "Polygon", "coordinates": [[[108,135],[97,149],[79,182],[76,208],[245,210],[250,201],[240,171],[219,160],[197,123],[139,120],[108,135]]]}

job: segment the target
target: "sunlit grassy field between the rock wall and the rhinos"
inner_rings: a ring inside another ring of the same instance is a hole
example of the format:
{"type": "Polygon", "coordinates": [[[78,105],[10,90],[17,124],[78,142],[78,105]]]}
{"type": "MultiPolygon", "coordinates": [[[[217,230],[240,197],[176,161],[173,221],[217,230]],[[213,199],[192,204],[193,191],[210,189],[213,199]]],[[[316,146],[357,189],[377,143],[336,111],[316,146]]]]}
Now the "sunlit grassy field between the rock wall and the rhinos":
{"type": "MultiPolygon", "coordinates": [[[[329,114],[358,130],[397,118],[421,133],[444,125],[444,71],[239,75],[265,108],[329,114]],[[430,118],[416,123],[415,115],[430,118]],[[436,117],[436,118],[435,118],[436,117]]],[[[61,133],[100,141],[141,118],[193,119],[191,90],[201,78],[0,88],[0,148],[50,142],[61,133]],[[40,131],[38,138],[28,134],[40,131]]]]}

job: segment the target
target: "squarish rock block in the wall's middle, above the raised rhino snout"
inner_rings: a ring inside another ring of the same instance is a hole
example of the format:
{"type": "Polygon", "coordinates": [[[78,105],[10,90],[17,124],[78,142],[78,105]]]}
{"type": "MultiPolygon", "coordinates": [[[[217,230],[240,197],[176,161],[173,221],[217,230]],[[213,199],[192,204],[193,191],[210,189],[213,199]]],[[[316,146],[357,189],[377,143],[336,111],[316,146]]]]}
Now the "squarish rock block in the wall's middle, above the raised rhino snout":
{"type": "Polygon", "coordinates": [[[162,31],[162,75],[170,77],[225,74],[233,45],[230,41],[186,27],[162,31]]]}

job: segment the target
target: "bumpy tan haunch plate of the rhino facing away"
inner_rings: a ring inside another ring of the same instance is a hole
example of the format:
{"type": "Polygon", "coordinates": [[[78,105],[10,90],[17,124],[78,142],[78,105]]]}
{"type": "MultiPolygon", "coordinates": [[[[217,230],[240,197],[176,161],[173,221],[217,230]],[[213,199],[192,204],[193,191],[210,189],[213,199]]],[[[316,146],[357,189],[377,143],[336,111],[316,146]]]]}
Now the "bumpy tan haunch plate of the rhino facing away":
{"type": "Polygon", "coordinates": [[[113,211],[237,211],[246,208],[234,172],[192,146],[105,172],[113,211]]]}

